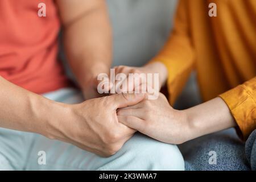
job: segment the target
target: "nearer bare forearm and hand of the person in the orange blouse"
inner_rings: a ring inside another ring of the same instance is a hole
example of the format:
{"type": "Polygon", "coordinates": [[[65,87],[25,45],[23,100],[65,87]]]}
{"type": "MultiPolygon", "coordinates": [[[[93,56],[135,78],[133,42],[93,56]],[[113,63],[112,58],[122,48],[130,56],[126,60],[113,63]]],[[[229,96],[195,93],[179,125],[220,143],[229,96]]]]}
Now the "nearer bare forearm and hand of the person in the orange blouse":
{"type": "Polygon", "coordinates": [[[144,100],[119,110],[118,121],[172,144],[236,126],[228,106],[219,97],[180,111],[173,109],[163,94],[158,100],[144,100]]]}

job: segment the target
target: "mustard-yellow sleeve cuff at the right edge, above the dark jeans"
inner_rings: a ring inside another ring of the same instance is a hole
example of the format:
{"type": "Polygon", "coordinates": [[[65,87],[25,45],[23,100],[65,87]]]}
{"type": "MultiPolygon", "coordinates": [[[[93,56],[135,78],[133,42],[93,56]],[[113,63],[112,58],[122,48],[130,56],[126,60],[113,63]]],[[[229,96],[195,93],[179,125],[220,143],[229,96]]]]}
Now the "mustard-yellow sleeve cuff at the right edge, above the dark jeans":
{"type": "Polygon", "coordinates": [[[256,129],[256,77],[220,95],[229,106],[240,130],[238,134],[247,139],[256,129]]]}

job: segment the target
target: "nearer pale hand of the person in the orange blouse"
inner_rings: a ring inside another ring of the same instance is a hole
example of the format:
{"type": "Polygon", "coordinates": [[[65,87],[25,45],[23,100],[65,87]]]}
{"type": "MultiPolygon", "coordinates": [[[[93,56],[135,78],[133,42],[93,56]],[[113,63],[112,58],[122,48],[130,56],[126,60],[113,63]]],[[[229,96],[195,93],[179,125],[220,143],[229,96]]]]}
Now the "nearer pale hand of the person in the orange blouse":
{"type": "Polygon", "coordinates": [[[162,93],[157,100],[119,109],[117,117],[124,125],[166,143],[183,143],[191,133],[186,113],[173,109],[162,93]]]}

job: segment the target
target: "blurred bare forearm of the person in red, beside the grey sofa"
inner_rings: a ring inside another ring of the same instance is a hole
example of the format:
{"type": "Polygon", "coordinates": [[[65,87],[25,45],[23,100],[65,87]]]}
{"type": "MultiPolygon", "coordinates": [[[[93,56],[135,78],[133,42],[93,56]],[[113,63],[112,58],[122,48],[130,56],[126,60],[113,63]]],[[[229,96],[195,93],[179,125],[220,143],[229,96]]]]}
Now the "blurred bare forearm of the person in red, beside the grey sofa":
{"type": "Polygon", "coordinates": [[[69,65],[81,87],[112,64],[112,31],[105,4],[99,3],[77,15],[64,27],[69,65]]]}

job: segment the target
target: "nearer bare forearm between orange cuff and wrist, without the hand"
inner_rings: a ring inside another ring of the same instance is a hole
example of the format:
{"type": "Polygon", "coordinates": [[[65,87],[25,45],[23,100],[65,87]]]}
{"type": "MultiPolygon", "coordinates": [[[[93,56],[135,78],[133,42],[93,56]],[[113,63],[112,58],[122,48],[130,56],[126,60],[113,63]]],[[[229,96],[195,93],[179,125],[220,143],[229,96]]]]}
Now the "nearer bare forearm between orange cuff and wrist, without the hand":
{"type": "Polygon", "coordinates": [[[220,97],[184,111],[187,115],[189,140],[237,126],[228,106],[220,97]]]}

